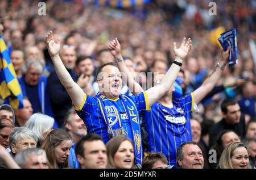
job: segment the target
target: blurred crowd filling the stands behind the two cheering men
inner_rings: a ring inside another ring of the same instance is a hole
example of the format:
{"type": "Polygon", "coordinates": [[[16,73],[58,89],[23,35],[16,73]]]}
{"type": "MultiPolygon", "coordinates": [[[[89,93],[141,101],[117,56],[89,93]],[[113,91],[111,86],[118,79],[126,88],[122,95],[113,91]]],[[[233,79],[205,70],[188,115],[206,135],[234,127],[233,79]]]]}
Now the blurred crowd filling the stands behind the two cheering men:
{"type": "MultiPolygon", "coordinates": [[[[221,58],[217,38],[235,27],[238,64],[225,69],[216,93],[197,104],[200,111],[193,113],[192,118],[200,123],[200,137],[204,137],[207,148],[209,129],[223,118],[222,99],[236,99],[245,127],[255,119],[256,1],[214,1],[216,15],[209,15],[209,0],[152,0],[130,7],[105,5],[109,1],[42,1],[46,3],[46,15],[39,15],[39,2],[0,2],[3,39],[23,94],[27,92],[24,109],[15,110],[15,126],[26,124],[33,112],[43,112],[55,119],[53,127],[65,127],[64,115],[72,103],[55,81],[56,73],[45,42],[49,31],[54,32],[56,39],[61,38],[60,56],[64,65],[70,67],[72,78],[89,95],[98,92],[97,68],[114,61],[108,44],[115,37],[121,44],[126,65],[142,86],[147,83],[148,72],[165,73],[170,67],[175,57],[173,42],[191,37],[192,49],[181,68],[183,76],[179,82],[184,95],[201,86],[214,69],[221,58]],[[42,82],[45,84],[39,85],[42,82]],[[43,97],[40,91],[33,94],[31,86],[35,85],[42,87],[43,97]],[[43,104],[39,103],[42,98],[43,104]]],[[[122,90],[123,94],[130,93],[122,90]]],[[[245,133],[246,129],[242,136],[245,133]]],[[[253,137],[256,138],[256,128],[253,137]]]]}

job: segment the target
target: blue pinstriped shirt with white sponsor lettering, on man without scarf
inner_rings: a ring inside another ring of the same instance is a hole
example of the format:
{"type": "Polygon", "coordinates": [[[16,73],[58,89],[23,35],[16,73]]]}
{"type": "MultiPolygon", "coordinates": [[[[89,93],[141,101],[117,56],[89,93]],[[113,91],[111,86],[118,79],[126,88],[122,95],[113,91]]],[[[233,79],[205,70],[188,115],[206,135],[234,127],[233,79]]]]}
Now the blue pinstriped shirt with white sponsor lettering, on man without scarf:
{"type": "Polygon", "coordinates": [[[192,140],[190,112],[193,111],[193,93],[177,98],[172,106],[156,102],[143,119],[147,130],[149,152],[162,152],[168,164],[176,164],[176,151],[179,146],[192,140]]]}

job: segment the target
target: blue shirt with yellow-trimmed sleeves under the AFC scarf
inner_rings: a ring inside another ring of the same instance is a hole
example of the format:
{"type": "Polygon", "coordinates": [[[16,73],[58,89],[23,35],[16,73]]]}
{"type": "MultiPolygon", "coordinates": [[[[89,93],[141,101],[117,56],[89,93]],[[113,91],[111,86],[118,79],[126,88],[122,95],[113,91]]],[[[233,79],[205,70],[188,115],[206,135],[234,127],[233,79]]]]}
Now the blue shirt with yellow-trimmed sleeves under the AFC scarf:
{"type": "MultiPolygon", "coordinates": [[[[146,91],[138,95],[128,96],[128,98],[130,98],[131,101],[135,103],[135,106],[137,107],[139,114],[150,110],[146,91]]],[[[125,108],[122,106],[121,100],[119,98],[109,100],[121,114],[122,127],[125,129],[127,137],[133,140],[131,123],[125,112],[125,108]]],[[[102,137],[104,143],[108,143],[108,125],[106,124],[102,116],[100,104],[98,103],[97,98],[90,97],[89,95],[85,94],[83,103],[81,104],[80,108],[75,107],[75,110],[77,112],[77,115],[79,115],[80,118],[84,120],[88,132],[97,133],[102,137]]]]}

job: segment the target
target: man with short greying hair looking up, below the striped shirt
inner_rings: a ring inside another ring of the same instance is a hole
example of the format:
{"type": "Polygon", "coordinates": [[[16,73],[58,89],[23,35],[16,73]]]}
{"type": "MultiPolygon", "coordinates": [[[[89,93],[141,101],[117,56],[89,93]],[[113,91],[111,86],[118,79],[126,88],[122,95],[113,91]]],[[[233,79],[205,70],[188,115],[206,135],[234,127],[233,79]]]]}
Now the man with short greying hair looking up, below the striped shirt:
{"type": "Polygon", "coordinates": [[[203,169],[203,152],[194,141],[183,143],[177,149],[177,165],[183,169],[203,169]]]}

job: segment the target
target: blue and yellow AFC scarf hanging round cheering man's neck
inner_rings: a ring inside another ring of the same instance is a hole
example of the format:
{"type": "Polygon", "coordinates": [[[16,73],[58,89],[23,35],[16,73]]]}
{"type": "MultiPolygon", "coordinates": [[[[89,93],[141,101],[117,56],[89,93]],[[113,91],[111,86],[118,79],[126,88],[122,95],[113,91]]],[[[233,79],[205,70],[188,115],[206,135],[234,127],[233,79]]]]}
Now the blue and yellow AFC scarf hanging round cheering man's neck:
{"type": "MultiPolygon", "coordinates": [[[[125,135],[127,133],[122,127],[121,115],[119,114],[117,108],[100,92],[96,95],[98,103],[100,104],[101,113],[108,125],[108,135],[110,138],[118,135],[125,135]]],[[[141,139],[141,127],[139,124],[139,113],[134,102],[125,95],[119,95],[119,99],[125,109],[128,119],[131,123],[131,131],[133,132],[133,144],[135,150],[135,166],[138,168],[142,164],[142,139],[141,139]]]]}

